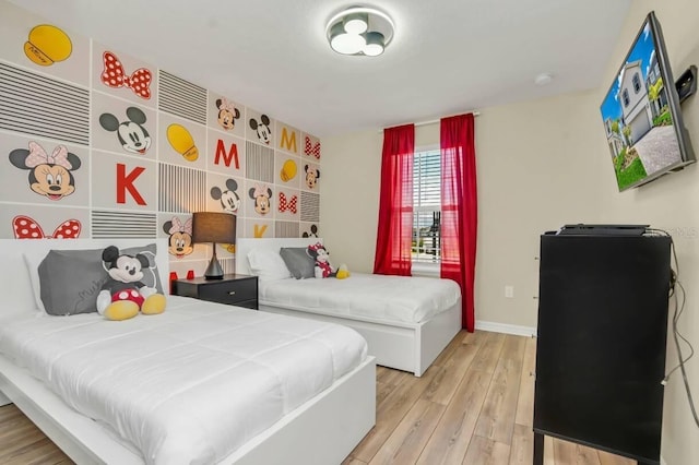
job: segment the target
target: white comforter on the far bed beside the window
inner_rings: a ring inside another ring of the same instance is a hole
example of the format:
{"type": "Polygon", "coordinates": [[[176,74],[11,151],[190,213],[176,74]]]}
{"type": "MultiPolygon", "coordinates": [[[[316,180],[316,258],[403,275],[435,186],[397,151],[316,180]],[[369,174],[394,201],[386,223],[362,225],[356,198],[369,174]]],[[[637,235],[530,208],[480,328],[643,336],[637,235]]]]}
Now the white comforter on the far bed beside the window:
{"type": "Polygon", "coordinates": [[[419,323],[459,301],[451,279],[353,273],[346,279],[261,281],[260,303],[348,318],[419,323]]]}

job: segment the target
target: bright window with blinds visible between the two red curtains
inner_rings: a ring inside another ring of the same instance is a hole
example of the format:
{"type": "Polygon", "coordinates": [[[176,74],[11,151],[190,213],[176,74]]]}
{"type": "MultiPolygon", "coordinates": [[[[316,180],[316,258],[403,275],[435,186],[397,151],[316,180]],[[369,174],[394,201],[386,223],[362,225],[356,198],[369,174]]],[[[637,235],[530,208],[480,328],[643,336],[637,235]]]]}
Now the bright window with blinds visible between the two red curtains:
{"type": "Polygon", "coordinates": [[[413,263],[439,263],[441,154],[416,151],[413,162],[413,263]]]}

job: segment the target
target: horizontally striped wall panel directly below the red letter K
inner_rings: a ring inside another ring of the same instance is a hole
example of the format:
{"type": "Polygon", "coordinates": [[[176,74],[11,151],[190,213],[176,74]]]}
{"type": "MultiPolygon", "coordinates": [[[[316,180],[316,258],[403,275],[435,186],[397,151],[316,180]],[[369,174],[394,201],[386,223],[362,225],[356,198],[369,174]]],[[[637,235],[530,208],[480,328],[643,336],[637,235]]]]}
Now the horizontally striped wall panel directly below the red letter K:
{"type": "Polygon", "coordinates": [[[155,238],[157,218],[155,213],[109,212],[93,210],[93,238],[155,238]]]}

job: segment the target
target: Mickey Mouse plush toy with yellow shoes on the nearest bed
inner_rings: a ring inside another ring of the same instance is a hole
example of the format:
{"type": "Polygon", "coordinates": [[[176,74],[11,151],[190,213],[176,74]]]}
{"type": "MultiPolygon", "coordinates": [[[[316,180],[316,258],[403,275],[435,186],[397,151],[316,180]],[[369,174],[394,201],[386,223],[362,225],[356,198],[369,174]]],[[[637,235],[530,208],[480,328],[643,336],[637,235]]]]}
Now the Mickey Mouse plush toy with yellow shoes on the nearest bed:
{"type": "Polygon", "coordinates": [[[165,296],[141,282],[142,269],[149,267],[149,259],[122,254],[115,246],[102,252],[102,260],[109,277],[97,296],[97,311],[107,320],[128,320],[139,314],[158,314],[165,310],[165,296]]]}

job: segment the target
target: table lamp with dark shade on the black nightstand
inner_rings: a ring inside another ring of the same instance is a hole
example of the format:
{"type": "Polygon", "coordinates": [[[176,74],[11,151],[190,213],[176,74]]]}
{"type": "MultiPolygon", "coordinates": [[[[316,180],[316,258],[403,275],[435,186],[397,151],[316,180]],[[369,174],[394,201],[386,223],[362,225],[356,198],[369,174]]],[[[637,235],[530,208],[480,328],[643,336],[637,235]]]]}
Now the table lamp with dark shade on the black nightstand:
{"type": "Polygon", "coordinates": [[[196,243],[213,242],[214,253],[204,272],[204,278],[223,279],[223,269],[216,259],[216,242],[236,243],[236,215],[194,212],[192,214],[192,241],[196,243]]]}

